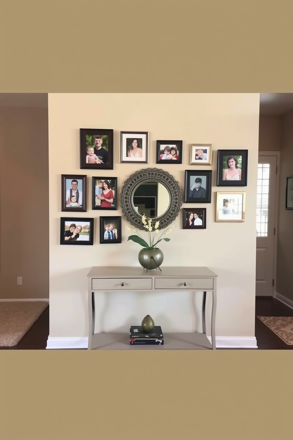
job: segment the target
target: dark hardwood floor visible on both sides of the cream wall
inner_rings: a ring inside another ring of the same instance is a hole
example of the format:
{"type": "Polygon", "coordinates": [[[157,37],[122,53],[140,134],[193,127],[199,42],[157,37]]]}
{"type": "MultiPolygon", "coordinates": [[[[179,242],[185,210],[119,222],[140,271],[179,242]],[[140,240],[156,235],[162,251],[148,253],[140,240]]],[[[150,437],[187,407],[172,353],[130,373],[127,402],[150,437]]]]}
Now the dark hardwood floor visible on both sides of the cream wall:
{"type": "MultiPolygon", "coordinates": [[[[292,350],[277,335],[268,329],[257,315],[262,316],[293,316],[293,309],[273,298],[256,298],[255,301],[255,336],[259,350],[292,350]]],[[[49,306],[40,315],[18,345],[0,347],[0,350],[45,350],[49,336],[49,306]]]]}

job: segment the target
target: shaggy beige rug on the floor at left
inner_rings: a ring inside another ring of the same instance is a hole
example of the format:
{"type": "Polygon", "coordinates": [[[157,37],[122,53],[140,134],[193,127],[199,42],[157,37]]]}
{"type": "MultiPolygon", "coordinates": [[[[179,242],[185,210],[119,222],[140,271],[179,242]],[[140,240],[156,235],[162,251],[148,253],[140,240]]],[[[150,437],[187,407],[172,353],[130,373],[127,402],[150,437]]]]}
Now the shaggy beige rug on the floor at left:
{"type": "Polygon", "coordinates": [[[0,301],[0,347],[14,347],[45,308],[45,301],[0,301]]]}

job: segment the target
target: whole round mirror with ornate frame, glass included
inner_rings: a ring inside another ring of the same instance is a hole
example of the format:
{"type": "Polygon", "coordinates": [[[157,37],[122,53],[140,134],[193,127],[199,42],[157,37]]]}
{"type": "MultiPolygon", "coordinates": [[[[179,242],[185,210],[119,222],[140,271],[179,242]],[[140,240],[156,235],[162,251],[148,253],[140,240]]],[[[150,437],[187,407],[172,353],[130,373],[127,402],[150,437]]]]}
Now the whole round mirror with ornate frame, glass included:
{"type": "Polygon", "coordinates": [[[122,213],[138,229],[144,229],[143,214],[159,220],[159,229],[167,227],[177,217],[181,205],[179,183],[159,168],[145,168],[131,174],[120,193],[122,213]]]}

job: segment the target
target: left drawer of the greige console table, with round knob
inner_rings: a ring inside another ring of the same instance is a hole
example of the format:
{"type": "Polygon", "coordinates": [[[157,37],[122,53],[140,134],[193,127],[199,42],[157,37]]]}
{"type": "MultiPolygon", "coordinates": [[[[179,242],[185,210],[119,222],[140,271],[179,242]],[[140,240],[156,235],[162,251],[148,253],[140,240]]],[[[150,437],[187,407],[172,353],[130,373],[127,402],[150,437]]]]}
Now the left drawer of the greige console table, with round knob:
{"type": "Polygon", "coordinates": [[[149,290],[152,278],[93,278],[93,290],[149,290]]]}

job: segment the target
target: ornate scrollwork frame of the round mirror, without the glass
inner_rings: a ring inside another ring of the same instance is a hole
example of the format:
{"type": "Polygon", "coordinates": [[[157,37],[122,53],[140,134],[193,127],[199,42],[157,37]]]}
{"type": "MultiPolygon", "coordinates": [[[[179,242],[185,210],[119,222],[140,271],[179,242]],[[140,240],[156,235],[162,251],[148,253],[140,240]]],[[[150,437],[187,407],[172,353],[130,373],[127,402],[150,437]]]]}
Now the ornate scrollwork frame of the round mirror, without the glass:
{"type": "Polygon", "coordinates": [[[169,208],[163,215],[155,217],[156,220],[159,220],[160,222],[159,229],[163,229],[175,220],[182,206],[182,193],[179,183],[169,172],[166,172],[163,169],[145,168],[131,174],[123,183],[120,192],[121,210],[132,226],[141,230],[144,229],[143,224],[141,223],[141,215],[134,209],[133,196],[138,185],[148,180],[156,180],[157,182],[162,183],[164,187],[168,185],[166,189],[170,196],[169,208]]]}

